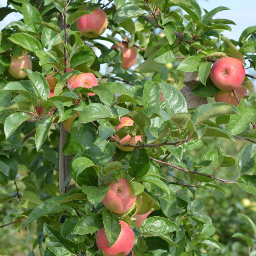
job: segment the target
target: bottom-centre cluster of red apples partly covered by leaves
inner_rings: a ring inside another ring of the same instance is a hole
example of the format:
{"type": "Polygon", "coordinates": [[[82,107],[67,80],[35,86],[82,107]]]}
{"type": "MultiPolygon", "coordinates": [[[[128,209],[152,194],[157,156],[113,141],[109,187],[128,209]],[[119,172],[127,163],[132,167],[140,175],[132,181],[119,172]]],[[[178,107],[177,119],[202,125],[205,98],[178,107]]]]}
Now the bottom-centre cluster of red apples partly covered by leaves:
{"type": "MultiPolygon", "coordinates": [[[[102,199],[102,203],[105,207],[118,214],[119,216],[126,215],[135,209],[135,212],[131,217],[135,217],[135,225],[141,227],[143,221],[151,213],[153,202],[142,195],[134,195],[134,190],[129,180],[119,178],[118,182],[108,183],[109,191],[102,199]]],[[[108,238],[105,232],[105,228],[102,227],[96,233],[96,244],[101,249],[105,256],[118,256],[127,255],[131,252],[134,244],[134,233],[129,225],[131,224],[131,218],[125,217],[125,221],[119,221],[121,224],[121,232],[116,242],[108,247],[108,238]]]]}

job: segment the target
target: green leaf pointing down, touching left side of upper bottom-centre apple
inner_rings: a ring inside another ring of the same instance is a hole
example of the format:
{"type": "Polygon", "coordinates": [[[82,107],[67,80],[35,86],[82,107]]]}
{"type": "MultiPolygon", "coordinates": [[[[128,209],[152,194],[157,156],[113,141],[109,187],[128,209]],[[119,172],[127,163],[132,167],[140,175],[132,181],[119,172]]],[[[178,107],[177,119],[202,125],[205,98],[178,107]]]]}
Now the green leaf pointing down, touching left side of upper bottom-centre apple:
{"type": "Polygon", "coordinates": [[[102,201],[105,195],[108,193],[109,186],[107,184],[96,186],[82,186],[82,191],[87,195],[88,201],[90,201],[94,207],[97,207],[97,204],[102,201]]]}

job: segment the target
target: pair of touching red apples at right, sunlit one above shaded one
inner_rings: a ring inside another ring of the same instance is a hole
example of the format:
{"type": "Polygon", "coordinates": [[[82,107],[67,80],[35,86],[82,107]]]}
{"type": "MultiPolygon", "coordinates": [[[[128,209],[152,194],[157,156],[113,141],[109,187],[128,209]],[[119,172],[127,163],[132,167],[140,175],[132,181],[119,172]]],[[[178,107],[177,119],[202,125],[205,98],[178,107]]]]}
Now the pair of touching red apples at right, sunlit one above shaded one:
{"type": "Polygon", "coordinates": [[[238,106],[239,103],[232,90],[235,90],[239,97],[244,97],[247,93],[247,89],[241,86],[245,78],[242,62],[233,57],[219,58],[212,65],[210,77],[215,86],[220,89],[214,95],[215,102],[226,102],[238,106]]]}

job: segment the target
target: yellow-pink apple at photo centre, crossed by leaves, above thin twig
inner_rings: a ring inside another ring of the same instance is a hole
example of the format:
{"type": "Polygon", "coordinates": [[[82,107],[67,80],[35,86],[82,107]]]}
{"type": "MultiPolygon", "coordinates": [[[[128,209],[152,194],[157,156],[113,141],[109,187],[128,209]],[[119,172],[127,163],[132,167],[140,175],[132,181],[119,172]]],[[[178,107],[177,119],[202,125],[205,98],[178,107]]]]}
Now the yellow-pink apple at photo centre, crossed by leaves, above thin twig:
{"type": "MultiPolygon", "coordinates": [[[[134,124],[134,121],[127,116],[120,118],[119,121],[121,123],[115,127],[116,131],[118,131],[120,128],[122,128],[124,126],[132,126],[134,124]]],[[[116,139],[119,140],[119,137],[116,134],[114,134],[114,137],[116,137],[116,139]]],[[[120,142],[124,143],[124,144],[136,145],[138,140],[142,141],[141,135],[131,137],[131,135],[128,134],[124,138],[122,138],[120,140],[120,142]]],[[[116,143],[116,146],[123,151],[133,151],[133,149],[134,149],[132,147],[123,147],[122,145],[119,145],[118,143],[116,143]]]]}

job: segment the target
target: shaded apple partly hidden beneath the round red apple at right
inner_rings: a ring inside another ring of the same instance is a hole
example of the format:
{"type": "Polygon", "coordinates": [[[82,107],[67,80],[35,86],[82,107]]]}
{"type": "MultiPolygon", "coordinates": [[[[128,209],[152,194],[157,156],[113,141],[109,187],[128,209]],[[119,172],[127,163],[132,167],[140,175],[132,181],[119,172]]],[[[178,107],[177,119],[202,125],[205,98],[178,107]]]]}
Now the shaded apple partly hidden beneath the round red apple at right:
{"type": "MultiPolygon", "coordinates": [[[[235,90],[235,92],[237,96],[244,97],[247,93],[247,89],[243,86],[240,86],[235,90]]],[[[226,102],[236,107],[239,105],[232,91],[219,90],[218,93],[214,94],[213,97],[215,102],[226,102]]],[[[241,101],[240,97],[239,99],[241,101]]]]}

